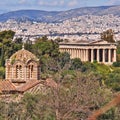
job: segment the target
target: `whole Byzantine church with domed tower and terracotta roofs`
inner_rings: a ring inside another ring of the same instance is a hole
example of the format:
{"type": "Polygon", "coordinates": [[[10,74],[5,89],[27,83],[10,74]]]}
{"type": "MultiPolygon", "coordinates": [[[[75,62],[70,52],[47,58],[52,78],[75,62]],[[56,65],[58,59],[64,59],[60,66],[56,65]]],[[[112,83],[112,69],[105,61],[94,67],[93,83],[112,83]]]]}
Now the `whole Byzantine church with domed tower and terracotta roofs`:
{"type": "Polygon", "coordinates": [[[5,67],[5,80],[0,81],[1,95],[37,93],[51,83],[54,85],[51,79],[40,80],[40,61],[24,45],[6,60],[5,67]]]}

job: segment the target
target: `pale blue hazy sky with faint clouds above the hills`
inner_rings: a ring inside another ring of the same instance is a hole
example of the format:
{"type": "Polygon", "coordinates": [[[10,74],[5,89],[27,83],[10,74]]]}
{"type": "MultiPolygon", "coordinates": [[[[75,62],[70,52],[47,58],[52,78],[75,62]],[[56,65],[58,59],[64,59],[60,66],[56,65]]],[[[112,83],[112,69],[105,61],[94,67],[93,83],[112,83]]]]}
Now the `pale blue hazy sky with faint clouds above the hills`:
{"type": "Polygon", "coordinates": [[[0,13],[20,9],[62,11],[86,6],[119,4],[120,0],[0,0],[0,13]]]}

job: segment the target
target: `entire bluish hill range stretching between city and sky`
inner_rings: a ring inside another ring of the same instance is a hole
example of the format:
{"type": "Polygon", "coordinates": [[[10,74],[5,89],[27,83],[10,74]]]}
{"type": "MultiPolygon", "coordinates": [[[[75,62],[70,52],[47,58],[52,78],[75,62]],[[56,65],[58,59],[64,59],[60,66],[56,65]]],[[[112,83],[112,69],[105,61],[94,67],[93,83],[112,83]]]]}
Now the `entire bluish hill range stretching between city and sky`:
{"type": "Polygon", "coordinates": [[[113,14],[120,16],[120,6],[100,6],[84,7],[68,11],[41,11],[41,10],[19,10],[0,15],[0,22],[9,19],[17,21],[40,21],[40,22],[60,22],[69,18],[82,15],[107,15],[113,14]]]}

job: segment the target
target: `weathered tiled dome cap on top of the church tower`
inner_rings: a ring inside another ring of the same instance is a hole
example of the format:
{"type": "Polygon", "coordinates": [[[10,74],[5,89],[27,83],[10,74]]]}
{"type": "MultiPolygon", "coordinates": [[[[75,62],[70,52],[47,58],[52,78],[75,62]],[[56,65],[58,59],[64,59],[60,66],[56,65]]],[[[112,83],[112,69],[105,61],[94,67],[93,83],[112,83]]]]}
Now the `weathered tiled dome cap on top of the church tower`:
{"type": "Polygon", "coordinates": [[[29,60],[38,61],[38,58],[33,53],[25,50],[24,47],[10,57],[11,63],[14,63],[15,61],[27,63],[29,60]]]}

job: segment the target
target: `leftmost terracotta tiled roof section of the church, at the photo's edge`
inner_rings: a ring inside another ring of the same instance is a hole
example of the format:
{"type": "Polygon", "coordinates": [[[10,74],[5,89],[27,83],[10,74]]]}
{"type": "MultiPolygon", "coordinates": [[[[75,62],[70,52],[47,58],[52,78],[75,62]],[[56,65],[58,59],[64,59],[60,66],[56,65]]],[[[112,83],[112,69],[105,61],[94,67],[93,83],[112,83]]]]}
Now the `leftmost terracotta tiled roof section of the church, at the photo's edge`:
{"type": "Polygon", "coordinates": [[[1,92],[12,92],[16,91],[16,88],[12,82],[9,80],[2,80],[0,81],[0,91],[1,92]]]}

